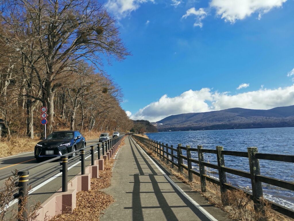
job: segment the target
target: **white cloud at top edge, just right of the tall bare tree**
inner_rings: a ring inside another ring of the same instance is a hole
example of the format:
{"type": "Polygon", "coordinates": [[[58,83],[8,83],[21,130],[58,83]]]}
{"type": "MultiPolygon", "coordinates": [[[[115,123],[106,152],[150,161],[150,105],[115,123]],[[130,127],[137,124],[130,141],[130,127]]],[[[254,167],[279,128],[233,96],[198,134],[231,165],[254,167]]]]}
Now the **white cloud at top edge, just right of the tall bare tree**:
{"type": "Polygon", "coordinates": [[[141,4],[154,0],[108,0],[105,7],[115,14],[118,18],[129,15],[135,11],[141,4]]]}

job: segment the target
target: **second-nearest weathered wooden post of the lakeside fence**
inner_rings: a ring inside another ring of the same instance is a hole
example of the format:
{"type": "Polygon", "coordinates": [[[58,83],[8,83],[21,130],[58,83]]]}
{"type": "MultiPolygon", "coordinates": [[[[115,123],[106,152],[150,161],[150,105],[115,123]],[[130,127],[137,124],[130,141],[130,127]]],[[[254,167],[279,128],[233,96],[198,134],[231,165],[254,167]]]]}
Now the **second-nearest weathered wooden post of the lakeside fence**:
{"type": "Polygon", "coordinates": [[[227,177],[225,175],[225,172],[222,169],[222,166],[225,166],[225,157],[222,154],[223,147],[222,146],[216,146],[216,156],[218,159],[218,177],[220,180],[220,196],[221,196],[221,202],[223,205],[227,206],[227,197],[226,197],[226,192],[227,189],[224,187],[224,183],[227,183],[227,177]]]}

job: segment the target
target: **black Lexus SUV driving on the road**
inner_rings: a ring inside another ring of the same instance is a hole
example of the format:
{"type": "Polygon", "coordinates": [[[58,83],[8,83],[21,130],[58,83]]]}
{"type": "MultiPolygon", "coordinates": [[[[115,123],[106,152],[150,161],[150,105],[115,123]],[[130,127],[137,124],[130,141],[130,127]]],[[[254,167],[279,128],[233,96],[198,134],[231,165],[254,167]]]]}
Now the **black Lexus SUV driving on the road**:
{"type": "MultiPolygon", "coordinates": [[[[35,158],[39,162],[48,157],[61,156],[86,147],[86,140],[78,131],[57,131],[35,146],[35,158]]],[[[69,157],[76,156],[76,153],[69,157]]]]}

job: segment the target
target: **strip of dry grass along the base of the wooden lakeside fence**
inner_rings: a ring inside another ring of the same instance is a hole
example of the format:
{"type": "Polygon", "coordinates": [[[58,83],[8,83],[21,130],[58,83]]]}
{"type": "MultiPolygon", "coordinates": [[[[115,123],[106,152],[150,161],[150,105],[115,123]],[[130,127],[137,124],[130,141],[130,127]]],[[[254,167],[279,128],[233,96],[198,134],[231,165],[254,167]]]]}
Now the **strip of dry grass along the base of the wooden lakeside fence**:
{"type": "MultiPolygon", "coordinates": [[[[140,141],[136,142],[143,147],[149,155],[154,158],[161,160],[157,154],[153,153],[140,141]]],[[[179,173],[175,169],[171,168],[171,164],[166,164],[165,161],[161,161],[166,167],[171,169],[172,174],[175,175],[181,182],[190,185],[193,190],[201,192],[200,177],[193,174],[193,182],[188,180],[188,172],[184,169],[183,174],[179,173]]],[[[227,191],[226,199],[228,199],[229,206],[224,207],[221,203],[220,189],[219,186],[206,181],[206,188],[208,192],[201,192],[201,194],[208,200],[209,203],[214,204],[216,207],[221,208],[225,212],[228,212],[232,219],[251,221],[251,220],[266,220],[266,221],[294,221],[294,219],[284,216],[275,210],[271,209],[270,204],[264,200],[264,211],[263,213],[256,213],[253,206],[253,201],[241,190],[239,191],[227,191]]]]}

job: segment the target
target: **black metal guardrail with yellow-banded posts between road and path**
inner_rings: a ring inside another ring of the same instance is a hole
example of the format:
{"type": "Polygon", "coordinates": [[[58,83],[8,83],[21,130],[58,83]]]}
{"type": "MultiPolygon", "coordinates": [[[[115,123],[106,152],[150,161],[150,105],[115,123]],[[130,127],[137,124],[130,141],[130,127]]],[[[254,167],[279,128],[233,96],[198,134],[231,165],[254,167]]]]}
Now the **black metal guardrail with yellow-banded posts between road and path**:
{"type": "MultiPolygon", "coordinates": [[[[68,170],[68,166],[71,166],[75,163],[77,163],[78,161],[81,161],[81,174],[85,174],[85,158],[86,156],[90,156],[91,155],[91,165],[94,165],[94,161],[95,161],[95,146],[97,145],[97,151],[98,151],[98,159],[101,159],[101,154],[100,154],[100,148],[102,146],[102,155],[106,154],[106,152],[109,152],[109,150],[112,148],[112,146],[114,146],[115,144],[119,144],[121,142],[121,139],[126,136],[126,134],[122,134],[118,137],[114,137],[109,139],[108,141],[104,141],[104,142],[97,142],[94,145],[91,145],[89,147],[86,148],[81,148],[79,150],[70,152],[70,153],[66,153],[63,154],[61,156],[57,156],[54,157],[52,159],[43,161],[41,163],[38,163],[36,165],[32,165],[32,166],[27,166],[23,169],[21,169],[20,171],[18,171],[17,175],[19,176],[19,181],[16,182],[16,187],[18,187],[18,193],[15,192],[11,198],[9,199],[9,201],[19,198],[19,208],[26,208],[26,203],[27,200],[23,200],[25,197],[28,196],[28,188],[29,188],[29,179],[33,179],[38,177],[41,174],[44,174],[45,172],[48,172],[52,169],[54,169],[53,171],[51,171],[51,177],[55,176],[56,174],[59,174],[60,172],[62,172],[62,192],[66,192],[67,191],[67,182],[68,182],[68,174],[67,174],[67,170],[68,170]],[[104,149],[105,148],[105,149],[104,149]],[[88,149],[88,150],[87,150],[88,149]],[[87,151],[86,151],[87,150],[87,151]],[[75,157],[72,158],[68,158],[68,156],[70,156],[73,153],[77,153],[80,152],[79,155],[76,155],[75,157]],[[62,160],[60,163],[54,164],[42,171],[39,171],[33,175],[30,175],[29,177],[29,170],[30,169],[34,169],[38,166],[56,161],[56,160],[62,160]]],[[[91,142],[93,143],[93,142],[91,142]]],[[[2,176],[0,176],[0,180],[3,179],[7,179],[9,177],[13,177],[16,174],[14,174],[13,172],[4,174],[2,176]]],[[[48,177],[44,177],[43,179],[38,179],[36,182],[34,182],[31,187],[34,188],[36,186],[38,186],[39,184],[41,184],[42,182],[44,182],[45,180],[47,180],[48,177]]],[[[2,188],[0,189],[0,192],[4,192],[5,189],[2,188]]],[[[17,190],[16,190],[17,191],[17,190]]],[[[23,214],[21,215],[21,217],[24,218],[24,220],[27,220],[28,214],[27,214],[27,210],[21,210],[23,212],[23,214]]]]}

